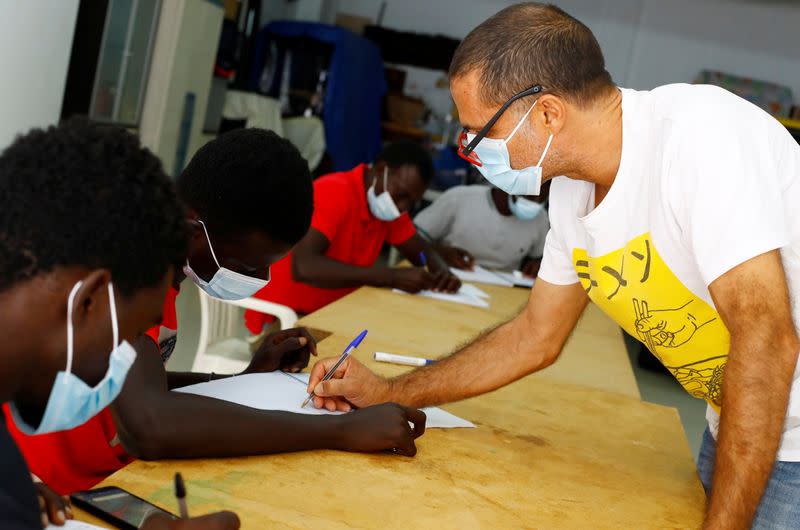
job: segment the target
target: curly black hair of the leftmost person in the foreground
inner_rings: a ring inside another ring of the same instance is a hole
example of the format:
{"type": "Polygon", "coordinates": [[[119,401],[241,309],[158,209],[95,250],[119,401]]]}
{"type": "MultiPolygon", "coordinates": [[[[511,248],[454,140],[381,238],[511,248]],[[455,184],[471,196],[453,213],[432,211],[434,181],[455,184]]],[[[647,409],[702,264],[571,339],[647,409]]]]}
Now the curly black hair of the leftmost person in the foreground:
{"type": "Polygon", "coordinates": [[[161,162],[119,127],[71,119],[0,155],[0,291],[59,266],[107,268],[124,296],[153,287],[188,250],[161,162]]]}

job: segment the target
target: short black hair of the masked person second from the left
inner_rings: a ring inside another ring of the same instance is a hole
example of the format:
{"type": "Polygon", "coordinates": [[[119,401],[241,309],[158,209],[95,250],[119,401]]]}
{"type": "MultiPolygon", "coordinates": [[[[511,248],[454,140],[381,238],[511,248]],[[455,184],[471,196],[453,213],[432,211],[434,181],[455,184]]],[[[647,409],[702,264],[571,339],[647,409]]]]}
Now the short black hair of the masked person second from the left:
{"type": "Polygon", "coordinates": [[[235,129],[194,155],[178,196],[220,236],[260,232],[294,245],[314,210],[311,172],[288,140],[265,129],[235,129]]]}

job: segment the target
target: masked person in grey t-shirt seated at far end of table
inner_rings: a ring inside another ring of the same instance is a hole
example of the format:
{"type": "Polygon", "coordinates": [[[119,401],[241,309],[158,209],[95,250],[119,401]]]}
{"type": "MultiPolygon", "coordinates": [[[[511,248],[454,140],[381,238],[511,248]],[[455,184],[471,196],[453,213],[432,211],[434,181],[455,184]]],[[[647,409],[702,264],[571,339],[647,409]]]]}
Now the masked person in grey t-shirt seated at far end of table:
{"type": "Polygon", "coordinates": [[[546,182],[538,195],[517,197],[495,187],[456,186],[419,212],[414,224],[452,267],[477,263],[535,278],[550,230],[549,188],[546,182]]]}

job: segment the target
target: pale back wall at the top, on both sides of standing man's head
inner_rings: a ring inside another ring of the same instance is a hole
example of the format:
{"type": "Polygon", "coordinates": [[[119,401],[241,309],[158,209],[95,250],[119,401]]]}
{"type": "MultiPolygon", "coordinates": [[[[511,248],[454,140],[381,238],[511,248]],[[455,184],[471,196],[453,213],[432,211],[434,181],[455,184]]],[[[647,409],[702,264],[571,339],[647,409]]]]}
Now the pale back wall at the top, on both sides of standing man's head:
{"type": "MultiPolygon", "coordinates": [[[[380,2],[336,0],[377,17],[380,2]]],[[[463,38],[512,0],[387,0],[383,25],[463,38]]],[[[553,0],[597,36],[615,81],[653,88],[704,68],[789,86],[800,100],[800,2],[792,0],[553,0]]]]}

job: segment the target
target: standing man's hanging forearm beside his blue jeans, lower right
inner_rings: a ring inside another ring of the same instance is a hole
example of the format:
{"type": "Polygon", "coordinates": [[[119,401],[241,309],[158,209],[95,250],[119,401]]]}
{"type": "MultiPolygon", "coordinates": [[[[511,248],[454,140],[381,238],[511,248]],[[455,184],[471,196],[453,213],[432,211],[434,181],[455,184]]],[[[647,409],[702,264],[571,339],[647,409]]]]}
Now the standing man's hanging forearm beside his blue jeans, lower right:
{"type": "Polygon", "coordinates": [[[793,333],[775,339],[732,344],[725,368],[707,529],[750,528],[769,480],[798,350],[793,333]],[[742,350],[762,354],[748,355],[742,350]],[[753,362],[759,358],[770,360],[753,362]]]}

